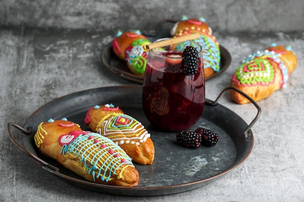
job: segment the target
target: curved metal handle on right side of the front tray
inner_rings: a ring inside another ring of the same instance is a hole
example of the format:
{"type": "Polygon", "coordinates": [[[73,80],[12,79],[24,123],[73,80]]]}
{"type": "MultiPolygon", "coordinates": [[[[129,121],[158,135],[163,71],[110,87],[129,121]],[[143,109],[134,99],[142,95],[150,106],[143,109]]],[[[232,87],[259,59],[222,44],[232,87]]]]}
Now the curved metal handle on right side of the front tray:
{"type": "Polygon", "coordinates": [[[227,92],[229,90],[234,90],[237,93],[240,93],[241,95],[243,95],[244,97],[246,97],[255,106],[255,108],[257,109],[256,116],[254,117],[253,121],[246,127],[246,129],[244,131],[244,138],[245,138],[245,140],[249,140],[251,138],[251,135],[252,135],[251,128],[252,128],[253,124],[255,124],[255,122],[257,121],[257,119],[260,117],[261,111],[262,111],[261,108],[260,108],[260,106],[258,106],[258,104],[249,95],[247,95],[246,93],[242,92],[241,90],[237,89],[234,86],[229,86],[229,87],[225,88],[224,90],[222,90],[222,92],[219,94],[219,96],[217,97],[217,99],[215,101],[206,100],[205,103],[207,105],[210,105],[210,106],[216,106],[218,104],[221,96],[225,92],[227,92]]]}

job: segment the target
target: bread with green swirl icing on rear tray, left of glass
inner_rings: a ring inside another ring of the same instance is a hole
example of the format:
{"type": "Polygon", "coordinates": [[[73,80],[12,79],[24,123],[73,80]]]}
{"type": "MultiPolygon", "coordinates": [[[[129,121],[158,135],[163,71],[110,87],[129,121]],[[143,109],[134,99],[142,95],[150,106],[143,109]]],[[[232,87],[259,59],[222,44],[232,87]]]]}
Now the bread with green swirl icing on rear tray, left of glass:
{"type": "Polygon", "coordinates": [[[144,76],[148,57],[148,50],[144,46],[147,44],[151,42],[139,30],[118,31],[112,47],[118,58],[126,61],[133,74],[144,76]]]}

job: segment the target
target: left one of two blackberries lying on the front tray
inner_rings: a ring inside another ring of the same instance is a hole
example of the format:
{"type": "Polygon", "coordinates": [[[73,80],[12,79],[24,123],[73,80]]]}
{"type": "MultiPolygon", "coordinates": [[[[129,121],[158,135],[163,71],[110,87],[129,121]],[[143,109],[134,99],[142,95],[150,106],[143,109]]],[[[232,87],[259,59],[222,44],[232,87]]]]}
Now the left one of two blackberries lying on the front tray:
{"type": "Polygon", "coordinates": [[[177,142],[185,147],[197,148],[201,145],[200,136],[192,131],[180,131],[176,133],[177,142]]]}

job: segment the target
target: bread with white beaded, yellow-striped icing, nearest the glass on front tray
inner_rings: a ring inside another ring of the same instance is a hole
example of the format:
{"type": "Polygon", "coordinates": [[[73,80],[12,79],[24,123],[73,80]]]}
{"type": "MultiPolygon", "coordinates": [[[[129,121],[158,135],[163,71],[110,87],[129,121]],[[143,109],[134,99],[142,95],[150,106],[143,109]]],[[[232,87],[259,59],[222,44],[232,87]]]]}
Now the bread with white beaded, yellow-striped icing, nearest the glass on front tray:
{"type": "Polygon", "coordinates": [[[94,132],[113,140],[138,164],[152,164],[154,145],[150,133],[133,117],[112,104],[91,107],[84,123],[94,132]]]}

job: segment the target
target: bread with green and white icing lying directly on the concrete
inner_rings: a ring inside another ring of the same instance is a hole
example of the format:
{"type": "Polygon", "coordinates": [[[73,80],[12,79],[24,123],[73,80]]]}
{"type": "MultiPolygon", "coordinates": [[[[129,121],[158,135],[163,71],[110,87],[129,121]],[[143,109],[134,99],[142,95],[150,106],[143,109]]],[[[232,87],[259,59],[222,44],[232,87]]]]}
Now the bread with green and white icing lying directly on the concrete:
{"type": "MultiPolygon", "coordinates": [[[[297,62],[297,56],[290,46],[271,44],[265,50],[249,55],[234,72],[230,85],[254,101],[263,100],[273,92],[286,88],[289,75],[297,62]]],[[[231,91],[230,96],[237,104],[250,102],[235,91],[231,91]]]]}

